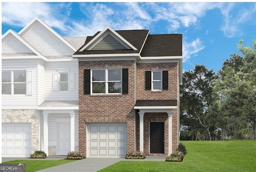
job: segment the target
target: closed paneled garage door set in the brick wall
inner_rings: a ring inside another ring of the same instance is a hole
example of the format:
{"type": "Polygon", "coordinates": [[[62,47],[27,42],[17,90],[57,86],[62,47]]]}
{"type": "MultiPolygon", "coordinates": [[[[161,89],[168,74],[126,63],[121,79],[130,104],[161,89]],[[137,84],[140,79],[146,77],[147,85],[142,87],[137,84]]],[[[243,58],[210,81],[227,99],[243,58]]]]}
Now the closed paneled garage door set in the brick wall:
{"type": "Polygon", "coordinates": [[[124,123],[88,123],[88,158],[124,158],[127,132],[124,123]]]}

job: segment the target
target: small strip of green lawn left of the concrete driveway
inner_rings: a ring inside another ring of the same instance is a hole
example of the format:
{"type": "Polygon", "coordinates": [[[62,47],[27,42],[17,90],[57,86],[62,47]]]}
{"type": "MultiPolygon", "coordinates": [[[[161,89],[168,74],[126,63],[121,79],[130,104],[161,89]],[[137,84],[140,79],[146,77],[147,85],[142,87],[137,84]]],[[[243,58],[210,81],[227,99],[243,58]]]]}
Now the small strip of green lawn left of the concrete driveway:
{"type": "Polygon", "coordinates": [[[61,164],[66,164],[68,162],[73,162],[76,160],[14,160],[3,162],[2,164],[10,163],[10,164],[26,164],[26,172],[35,172],[38,170],[42,170],[45,168],[50,168],[53,166],[58,166],[61,164]]]}

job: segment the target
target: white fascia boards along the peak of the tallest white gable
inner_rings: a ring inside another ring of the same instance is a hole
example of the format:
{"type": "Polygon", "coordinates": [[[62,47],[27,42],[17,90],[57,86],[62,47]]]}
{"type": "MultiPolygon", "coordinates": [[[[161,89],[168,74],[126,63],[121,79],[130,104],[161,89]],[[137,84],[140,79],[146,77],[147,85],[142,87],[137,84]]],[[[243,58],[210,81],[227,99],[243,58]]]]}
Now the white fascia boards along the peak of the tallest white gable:
{"type": "Polygon", "coordinates": [[[52,34],[54,34],[58,39],[60,39],[64,44],[66,44],[69,48],[71,48],[74,52],[76,52],[76,48],[74,48],[71,44],[69,44],[60,34],[58,34],[55,30],[53,30],[50,26],[48,26],[45,22],[43,22],[40,18],[35,17],[29,24],[27,24],[18,34],[22,35],[23,32],[26,31],[33,23],[39,22],[42,24],[47,30],[49,30],[52,34]]]}

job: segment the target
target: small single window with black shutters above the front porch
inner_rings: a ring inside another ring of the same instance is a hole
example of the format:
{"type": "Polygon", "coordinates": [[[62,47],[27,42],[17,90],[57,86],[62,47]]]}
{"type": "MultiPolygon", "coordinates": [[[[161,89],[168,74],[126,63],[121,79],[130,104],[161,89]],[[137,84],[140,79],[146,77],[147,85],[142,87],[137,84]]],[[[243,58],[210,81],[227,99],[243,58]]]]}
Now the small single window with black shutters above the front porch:
{"type": "Polygon", "coordinates": [[[168,71],[153,70],[145,73],[146,90],[168,90],[168,71]]]}

